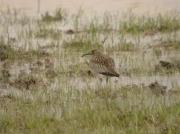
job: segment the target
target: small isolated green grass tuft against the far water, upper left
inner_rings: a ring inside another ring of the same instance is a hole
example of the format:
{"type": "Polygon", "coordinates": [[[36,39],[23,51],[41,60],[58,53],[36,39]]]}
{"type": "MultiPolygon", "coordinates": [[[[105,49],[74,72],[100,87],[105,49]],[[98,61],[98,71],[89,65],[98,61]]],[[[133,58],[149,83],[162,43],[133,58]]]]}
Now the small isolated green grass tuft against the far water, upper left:
{"type": "Polygon", "coordinates": [[[41,16],[43,22],[55,22],[62,21],[65,17],[65,12],[63,9],[57,9],[53,15],[50,15],[49,12],[46,12],[41,16]]]}

